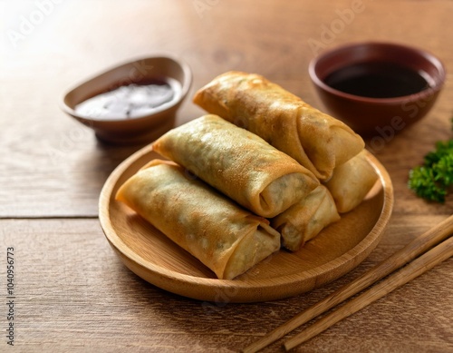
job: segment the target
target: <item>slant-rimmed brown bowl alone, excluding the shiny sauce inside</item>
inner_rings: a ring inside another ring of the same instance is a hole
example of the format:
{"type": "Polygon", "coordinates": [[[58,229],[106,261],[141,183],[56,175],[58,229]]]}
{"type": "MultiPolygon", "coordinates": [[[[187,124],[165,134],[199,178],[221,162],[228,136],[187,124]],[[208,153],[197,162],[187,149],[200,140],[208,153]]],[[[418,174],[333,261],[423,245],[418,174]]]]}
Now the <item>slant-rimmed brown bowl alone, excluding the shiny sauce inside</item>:
{"type": "Polygon", "coordinates": [[[92,128],[103,142],[132,144],[151,142],[175,124],[178,108],[192,83],[188,64],[167,54],[144,57],[120,64],[84,81],[65,93],[61,107],[75,120],[92,128]],[[100,93],[109,92],[123,85],[144,81],[169,81],[178,83],[178,93],[173,99],[152,113],[128,119],[99,119],[79,113],[76,106],[100,93]]]}

